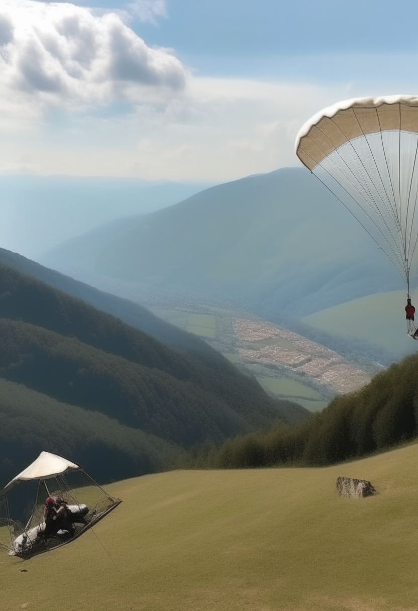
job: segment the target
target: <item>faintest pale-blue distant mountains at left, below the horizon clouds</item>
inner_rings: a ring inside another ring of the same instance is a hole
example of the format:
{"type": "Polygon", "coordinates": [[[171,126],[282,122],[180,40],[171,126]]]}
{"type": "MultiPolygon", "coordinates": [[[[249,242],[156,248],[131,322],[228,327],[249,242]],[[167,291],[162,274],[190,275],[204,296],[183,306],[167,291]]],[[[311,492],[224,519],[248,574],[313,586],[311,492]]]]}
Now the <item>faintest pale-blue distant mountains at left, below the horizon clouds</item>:
{"type": "Polygon", "coordinates": [[[159,210],[207,186],[123,177],[2,175],[0,244],[34,258],[97,225],[159,210]]]}

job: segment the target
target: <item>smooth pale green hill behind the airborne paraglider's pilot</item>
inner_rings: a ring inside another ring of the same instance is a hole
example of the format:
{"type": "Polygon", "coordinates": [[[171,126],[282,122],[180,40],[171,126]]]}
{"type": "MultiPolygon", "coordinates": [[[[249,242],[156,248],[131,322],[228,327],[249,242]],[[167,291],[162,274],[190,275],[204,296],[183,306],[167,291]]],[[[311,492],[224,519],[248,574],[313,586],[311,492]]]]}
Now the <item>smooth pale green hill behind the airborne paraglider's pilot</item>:
{"type": "MultiPolygon", "coordinates": [[[[418,303],[414,295],[413,303],[418,303]]],[[[392,291],[354,299],[303,318],[310,326],[343,337],[362,337],[398,354],[418,349],[406,335],[406,291],[392,291]]],[[[418,322],[417,322],[418,324],[418,322]]]]}

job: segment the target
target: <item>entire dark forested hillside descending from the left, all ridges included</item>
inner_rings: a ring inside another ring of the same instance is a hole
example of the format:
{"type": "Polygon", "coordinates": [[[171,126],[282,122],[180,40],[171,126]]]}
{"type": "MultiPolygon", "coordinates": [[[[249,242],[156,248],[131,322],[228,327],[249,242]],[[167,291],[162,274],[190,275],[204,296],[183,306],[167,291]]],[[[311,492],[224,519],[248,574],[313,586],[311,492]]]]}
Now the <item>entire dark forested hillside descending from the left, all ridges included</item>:
{"type": "Polygon", "coordinates": [[[19,255],[2,250],[0,259],[2,481],[42,449],[67,448],[73,459],[81,453],[87,469],[104,480],[167,467],[195,443],[306,416],[146,310],[19,255]],[[167,342],[22,269],[119,307],[137,323],[142,317],[167,342]]]}

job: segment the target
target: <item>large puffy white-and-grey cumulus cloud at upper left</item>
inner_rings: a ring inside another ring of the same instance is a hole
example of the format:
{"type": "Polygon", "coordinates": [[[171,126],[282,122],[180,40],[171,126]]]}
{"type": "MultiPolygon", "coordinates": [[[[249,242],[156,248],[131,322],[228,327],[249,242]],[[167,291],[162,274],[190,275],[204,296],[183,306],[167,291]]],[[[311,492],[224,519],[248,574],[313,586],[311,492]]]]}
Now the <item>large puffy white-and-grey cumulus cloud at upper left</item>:
{"type": "MultiPolygon", "coordinates": [[[[164,2],[136,2],[143,20],[164,2]]],[[[113,12],[73,4],[2,0],[0,85],[5,98],[31,103],[140,101],[145,90],[178,91],[186,72],[168,49],[150,48],[113,12]]]]}

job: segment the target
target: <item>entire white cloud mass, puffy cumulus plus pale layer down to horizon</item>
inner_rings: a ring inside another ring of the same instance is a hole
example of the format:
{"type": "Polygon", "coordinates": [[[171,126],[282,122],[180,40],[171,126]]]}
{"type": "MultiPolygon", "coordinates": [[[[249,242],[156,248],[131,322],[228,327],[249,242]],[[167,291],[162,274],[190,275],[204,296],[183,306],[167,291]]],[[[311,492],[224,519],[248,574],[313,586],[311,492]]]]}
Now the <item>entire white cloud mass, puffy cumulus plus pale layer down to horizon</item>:
{"type": "MultiPolygon", "coordinates": [[[[164,15],[163,2],[136,6],[144,20],[164,15]]],[[[1,0],[0,173],[231,180],[298,164],[296,133],[318,109],[398,93],[383,82],[193,77],[123,18],[1,0]]]]}

